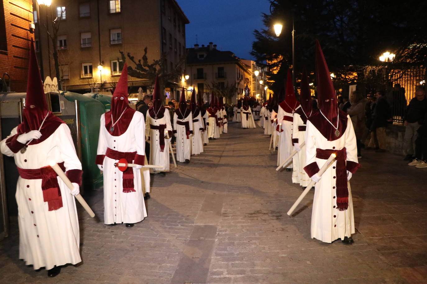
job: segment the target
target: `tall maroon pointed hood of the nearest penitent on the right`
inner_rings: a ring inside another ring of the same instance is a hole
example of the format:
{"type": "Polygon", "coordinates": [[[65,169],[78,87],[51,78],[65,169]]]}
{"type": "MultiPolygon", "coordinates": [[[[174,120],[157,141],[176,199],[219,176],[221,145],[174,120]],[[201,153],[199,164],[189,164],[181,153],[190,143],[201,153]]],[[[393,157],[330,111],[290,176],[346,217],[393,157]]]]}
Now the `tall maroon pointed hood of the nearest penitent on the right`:
{"type": "Polygon", "coordinates": [[[347,114],[338,109],[328,64],[318,40],[316,40],[316,77],[319,112],[313,114],[308,120],[328,141],[334,141],[345,132],[347,114]]]}

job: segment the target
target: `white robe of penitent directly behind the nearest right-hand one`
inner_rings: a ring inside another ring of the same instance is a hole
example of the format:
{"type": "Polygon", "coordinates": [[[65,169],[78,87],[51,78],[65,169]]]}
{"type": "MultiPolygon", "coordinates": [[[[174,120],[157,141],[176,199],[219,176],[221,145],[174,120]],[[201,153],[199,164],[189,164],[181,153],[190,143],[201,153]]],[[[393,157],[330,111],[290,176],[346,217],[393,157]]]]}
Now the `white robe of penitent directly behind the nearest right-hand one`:
{"type": "MultiPolygon", "coordinates": [[[[306,126],[301,119],[301,116],[294,112],[293,114],[293,127],[292,127],[292,140],[298,139],[298,143],[301,147],[301,144],[305,141],[305,131],[299,131],[298,126],[306,126]]],[[[294,148],[295,149],[295,148],[294,148]]],[[[294,150],[292,149],[292,151],[294,150]]],[[[301,147],[301,151],[293,156],[293,173],[292,182],[299,183],[301,186],[307,186],[310,184],[310,177],[304,171],[306,160],[305,146],[301,147]]]]}

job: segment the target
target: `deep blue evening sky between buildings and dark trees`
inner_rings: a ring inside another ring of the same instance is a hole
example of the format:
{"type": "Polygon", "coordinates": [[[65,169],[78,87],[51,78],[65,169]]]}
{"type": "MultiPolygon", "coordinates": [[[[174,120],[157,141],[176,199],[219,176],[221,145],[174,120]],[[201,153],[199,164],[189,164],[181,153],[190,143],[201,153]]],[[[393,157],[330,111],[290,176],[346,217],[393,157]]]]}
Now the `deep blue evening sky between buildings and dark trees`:
{"type": "Polygon", "coordinates": [[[262,13],[269,13],[268,0],[178,0],[190,24],[186,25],[187,48],[209,42],[219,50],[229,50],[238,57],[253,59],[254,29],[263,29],[262,13]]]}

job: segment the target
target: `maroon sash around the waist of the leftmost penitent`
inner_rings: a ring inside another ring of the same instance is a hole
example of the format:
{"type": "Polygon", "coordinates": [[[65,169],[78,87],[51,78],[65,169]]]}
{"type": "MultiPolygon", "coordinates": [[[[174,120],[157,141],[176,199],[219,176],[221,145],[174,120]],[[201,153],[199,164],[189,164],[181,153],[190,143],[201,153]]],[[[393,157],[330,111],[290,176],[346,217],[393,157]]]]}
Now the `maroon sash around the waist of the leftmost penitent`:
{"type": "MultiPolygon", "coordinates": [[[[65,172],[64,162],[58,163],[58,165],[65,172]]],[[[18,168],[18,172],[20,177],[23,179],[41,179],[43,201],[47,202],[49,211],[57,210],[62,207],[61,190],[59,189],[58,179],[56,178],[58,175],[51,166],[44,166],[40,169],[18,168]]]]}

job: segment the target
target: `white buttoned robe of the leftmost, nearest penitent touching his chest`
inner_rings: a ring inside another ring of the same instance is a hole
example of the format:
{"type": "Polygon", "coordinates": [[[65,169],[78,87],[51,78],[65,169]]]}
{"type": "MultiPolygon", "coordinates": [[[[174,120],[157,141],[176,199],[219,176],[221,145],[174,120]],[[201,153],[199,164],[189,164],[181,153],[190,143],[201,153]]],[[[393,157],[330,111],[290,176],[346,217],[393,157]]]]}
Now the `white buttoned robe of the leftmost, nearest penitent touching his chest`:
{"type": "MultiPolygon", "coordinates": [[[[17,133],[17,127],[9,136],[17,133]]],[[[7,139],[7,138],[6,138],[7,139]]],[[[76,155],[71,132],[67,124],[62,123],[46,140],[29,145],[26,152],[12,152],[6,144],[0,143],[1,152],[15,158],[15,164],[21,169],[40,169],[50,163],[64,162],[66,171],[82,169],[76,155]]],[[[19,258],[34,269],[55,265],[77,264],[81,260],[79,245],[79,222],[76,201],[70,189],[57,177],[62,196],[62,207],[49,211],[44,202],[41,179],[18,178],[16,202],[18,203],[19,258]]]]}

